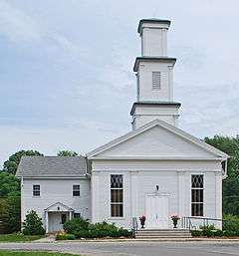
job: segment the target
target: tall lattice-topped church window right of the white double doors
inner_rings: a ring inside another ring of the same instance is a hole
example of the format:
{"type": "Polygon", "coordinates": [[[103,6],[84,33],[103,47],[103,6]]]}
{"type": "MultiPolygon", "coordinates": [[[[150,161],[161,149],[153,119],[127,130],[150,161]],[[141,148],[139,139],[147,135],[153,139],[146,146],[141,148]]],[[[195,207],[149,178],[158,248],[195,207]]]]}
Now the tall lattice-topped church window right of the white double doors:
{"type": "Polygon", "coordinates": [[[203,216],[203,175],[191,175],[191,215],[203,216]]]}

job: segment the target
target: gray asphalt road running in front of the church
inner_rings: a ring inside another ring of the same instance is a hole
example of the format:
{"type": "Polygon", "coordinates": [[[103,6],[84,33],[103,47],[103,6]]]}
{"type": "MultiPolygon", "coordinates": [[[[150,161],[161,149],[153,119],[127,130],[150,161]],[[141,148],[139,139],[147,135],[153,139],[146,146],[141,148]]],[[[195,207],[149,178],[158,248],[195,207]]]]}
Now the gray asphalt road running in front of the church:
{"type": "Polygon", "coordinates": [[[94,256],[239,256],[239,242],[0,243],[0,249],[50,250],[94,256]]]}

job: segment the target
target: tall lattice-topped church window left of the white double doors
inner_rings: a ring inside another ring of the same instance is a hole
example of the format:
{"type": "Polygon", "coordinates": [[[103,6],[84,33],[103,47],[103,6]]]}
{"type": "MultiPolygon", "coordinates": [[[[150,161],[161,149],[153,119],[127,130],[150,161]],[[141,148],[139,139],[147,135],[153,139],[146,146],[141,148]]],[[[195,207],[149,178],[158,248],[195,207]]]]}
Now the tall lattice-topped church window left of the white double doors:
{"type": "Polygon", "coordinates": [[[111,216],[123,216],[123,182],[122,175],[111,175],[111,216]]]}

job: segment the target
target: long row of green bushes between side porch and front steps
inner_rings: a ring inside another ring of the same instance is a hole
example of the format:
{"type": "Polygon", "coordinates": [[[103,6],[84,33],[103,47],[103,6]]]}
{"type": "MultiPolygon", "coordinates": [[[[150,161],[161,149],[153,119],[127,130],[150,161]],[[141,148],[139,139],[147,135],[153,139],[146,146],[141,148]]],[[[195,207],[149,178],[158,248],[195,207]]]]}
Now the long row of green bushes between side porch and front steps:
{"type": "Polygon", "coordinates": [[[67,234],[73,234],[76,238],[103,238],[103,237],[130,237],[131,232],[119,228],[115,224],[101,223],[91,224],[84,218],[74,218],[64,224],[67,234]]]}

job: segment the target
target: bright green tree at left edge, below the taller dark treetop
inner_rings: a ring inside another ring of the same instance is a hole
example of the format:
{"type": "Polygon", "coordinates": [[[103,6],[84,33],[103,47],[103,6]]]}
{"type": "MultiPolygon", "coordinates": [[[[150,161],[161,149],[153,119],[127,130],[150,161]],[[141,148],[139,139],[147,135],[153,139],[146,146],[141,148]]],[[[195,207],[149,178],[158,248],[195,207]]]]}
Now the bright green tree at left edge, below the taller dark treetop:
{"type": "Polygon", "coordinates": [[[6,171],[0,172],[0,197],[8,196],[9,193],[20,195],[20,180],[6,171]]]}

